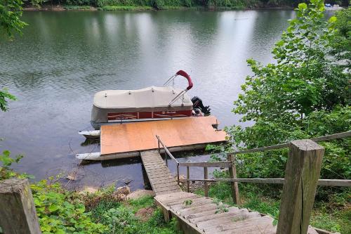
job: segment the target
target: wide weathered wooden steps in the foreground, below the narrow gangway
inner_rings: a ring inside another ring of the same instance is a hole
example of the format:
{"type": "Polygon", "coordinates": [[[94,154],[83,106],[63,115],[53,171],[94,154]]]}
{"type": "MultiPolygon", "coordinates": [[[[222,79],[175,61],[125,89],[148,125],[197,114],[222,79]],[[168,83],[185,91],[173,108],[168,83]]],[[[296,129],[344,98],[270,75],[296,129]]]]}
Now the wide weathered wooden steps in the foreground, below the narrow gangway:
{"type": "MultiPolygon", "coordinates": [[[[273,234],[277,231],[270,216],[229,207],[194,193],[173,192],[154,199],[164,209],[165,219],[176,218],[185,234],[273,234]]],[[[311,227],[307,233],[318,234],[311,227]]]]}

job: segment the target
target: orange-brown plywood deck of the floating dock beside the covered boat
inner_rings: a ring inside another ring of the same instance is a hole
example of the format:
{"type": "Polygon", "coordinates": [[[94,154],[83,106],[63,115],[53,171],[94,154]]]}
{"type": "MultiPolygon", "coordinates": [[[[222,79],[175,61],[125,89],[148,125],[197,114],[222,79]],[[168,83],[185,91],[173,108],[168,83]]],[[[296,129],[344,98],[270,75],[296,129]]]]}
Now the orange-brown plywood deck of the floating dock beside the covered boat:
{"type": "Polygon", "coordinates": [[[225,141],[225,131],[212,124],[214,116],[101,126],[101,155],[156,149],[156,135],[168,148],[225,141]]]}

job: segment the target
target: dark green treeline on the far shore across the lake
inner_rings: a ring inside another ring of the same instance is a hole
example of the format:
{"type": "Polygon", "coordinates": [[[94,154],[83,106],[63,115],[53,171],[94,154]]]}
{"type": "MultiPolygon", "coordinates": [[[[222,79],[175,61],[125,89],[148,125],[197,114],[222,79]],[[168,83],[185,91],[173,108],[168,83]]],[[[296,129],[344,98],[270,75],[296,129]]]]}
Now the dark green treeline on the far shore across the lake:
{"type": "MultiPolygon", "coordinates": [[[[25,0],[27,8],[56,8],[67,6],[67,9],[88,9],[90,6],[104,10],[166,10],[176,8],[204,9],[246,9],[296,7],[303,0],[25,0]],[[76,6],[76,7],[69,7],[76,6]],[[81,7],[78,7],[81,6],[81,7]],[[82,7],[83,6],[83,7],[82,7]],[[107,8],[106,8],[107,7],[107,8]]],[[[348,6],[348,0],[328,0],[328,4],[348,6]]]]}

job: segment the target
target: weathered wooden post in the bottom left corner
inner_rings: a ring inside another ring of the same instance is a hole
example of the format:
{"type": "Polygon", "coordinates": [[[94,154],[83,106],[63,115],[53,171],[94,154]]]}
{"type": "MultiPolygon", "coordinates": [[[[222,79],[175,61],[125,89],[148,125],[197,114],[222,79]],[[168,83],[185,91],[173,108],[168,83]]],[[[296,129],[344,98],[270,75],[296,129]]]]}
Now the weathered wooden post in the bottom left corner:
{"type": "Polygon", "coordinates": [[[41,233],[27,179],[0,181],[0,226],[4,234],[41,233]]]}

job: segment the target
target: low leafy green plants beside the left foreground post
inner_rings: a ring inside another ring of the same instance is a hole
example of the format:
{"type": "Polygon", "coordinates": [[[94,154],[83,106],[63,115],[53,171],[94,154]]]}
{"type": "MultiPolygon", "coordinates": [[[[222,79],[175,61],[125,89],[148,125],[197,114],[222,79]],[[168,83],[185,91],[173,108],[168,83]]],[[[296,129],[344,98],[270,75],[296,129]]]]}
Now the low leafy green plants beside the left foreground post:
{"type": "Polygon", "coordinates": [[[41,232],[104,233],[107,226],[91,221],[91,212],[74,193],[62,189],[59,183],[46,180],[31,186],[41,232]]]}

